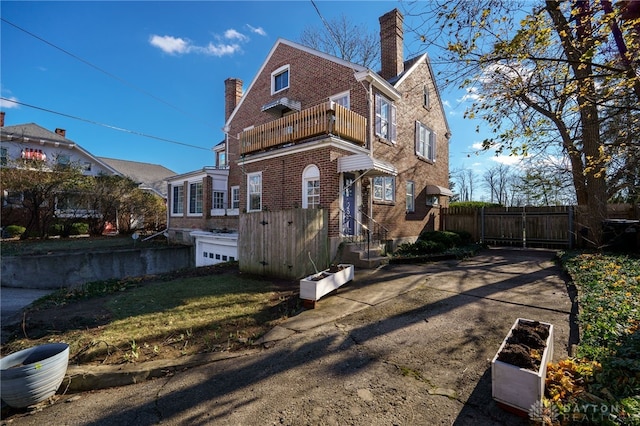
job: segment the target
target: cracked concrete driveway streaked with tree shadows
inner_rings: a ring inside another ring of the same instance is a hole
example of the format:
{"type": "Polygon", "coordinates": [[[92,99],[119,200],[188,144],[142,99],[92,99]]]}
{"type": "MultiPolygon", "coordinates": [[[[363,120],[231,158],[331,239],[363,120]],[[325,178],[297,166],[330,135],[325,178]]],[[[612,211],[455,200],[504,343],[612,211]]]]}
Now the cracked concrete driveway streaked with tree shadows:
{"type": "Polygon", "coordinates": [[[14,416],[25,425],[519,424],[491,398],[490,360],[517,318],[554,324],[554,359],[568,355],[572,302],[552,257],[485,250],[356,271],[255,350],[70,366],[67,395],[14,416]]]}

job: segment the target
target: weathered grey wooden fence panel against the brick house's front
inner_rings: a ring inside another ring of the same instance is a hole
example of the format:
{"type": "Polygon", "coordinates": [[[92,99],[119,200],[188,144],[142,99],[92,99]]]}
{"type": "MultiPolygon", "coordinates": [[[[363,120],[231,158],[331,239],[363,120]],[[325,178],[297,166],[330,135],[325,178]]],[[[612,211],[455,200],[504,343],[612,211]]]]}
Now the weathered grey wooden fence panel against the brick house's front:
{"type": "Polygon", "coordinates": [[[242,272],[299,279],[329,264],[327,211],[291,209],[240,215],[242,272]]]}

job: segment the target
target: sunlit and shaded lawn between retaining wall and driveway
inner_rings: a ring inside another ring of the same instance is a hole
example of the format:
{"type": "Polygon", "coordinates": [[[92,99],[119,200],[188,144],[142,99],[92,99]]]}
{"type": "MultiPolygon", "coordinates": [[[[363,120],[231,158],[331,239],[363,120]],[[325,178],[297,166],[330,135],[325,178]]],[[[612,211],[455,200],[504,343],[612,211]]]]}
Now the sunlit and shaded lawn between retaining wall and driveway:
{"type": "Polygon", "coordinates": [[[246,348],[300,309],[291,285],[237,264],[89,283],[38,300],[2,351],[49,341],[77,363],[139,362],[246,348]]]}

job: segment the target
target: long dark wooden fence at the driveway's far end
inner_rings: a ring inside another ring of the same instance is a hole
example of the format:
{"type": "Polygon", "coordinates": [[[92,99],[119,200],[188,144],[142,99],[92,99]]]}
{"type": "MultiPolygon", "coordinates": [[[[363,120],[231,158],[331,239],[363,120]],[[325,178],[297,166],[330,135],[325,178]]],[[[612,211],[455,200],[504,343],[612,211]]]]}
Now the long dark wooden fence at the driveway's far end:
{"type": "MultiPolygon", "coordinates": [[[[608,207],[608,218],[634,219],[630,205],[608,207]]],[[[474,241],[519,247],[574,248],[580,245],[587,215],[575,206],[449,207],[441,211],[442,229],[467,231],[474,241]]]]}

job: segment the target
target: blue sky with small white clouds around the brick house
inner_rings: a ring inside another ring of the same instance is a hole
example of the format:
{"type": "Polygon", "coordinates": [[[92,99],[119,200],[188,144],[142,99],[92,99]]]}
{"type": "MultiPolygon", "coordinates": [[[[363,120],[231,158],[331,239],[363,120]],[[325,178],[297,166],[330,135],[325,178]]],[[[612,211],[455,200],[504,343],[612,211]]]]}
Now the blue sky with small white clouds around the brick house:
{"type": "MultiPolygon", "coordinates": [[[[390,1],[316,5],[325,20],[344,14],[376,34],[379,16],[402,10],[390,1]]],[[[305,27],[322,25],[310,0],[2,1],[0,8],[8,21],[1,22],[0,93],[23,104],[1,101],[5,125],[63,128],[96,156],[178,174],[213,164],[224,80],[240,78],[246,89],[279,37],[298,41],[305,27]]],[[[405,32],[405,46],[416,45],[405,32]]],[[[417,53],[405,47],[405,58],[417,53]]],[[[481,173],[500,160],[467,156],[483,136],[477,122],[462,118],[465,92],[441,88],[441,95],[453,133],[451,170],[481,173]]]]}

